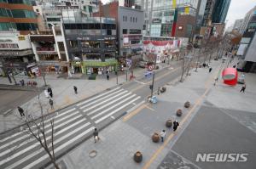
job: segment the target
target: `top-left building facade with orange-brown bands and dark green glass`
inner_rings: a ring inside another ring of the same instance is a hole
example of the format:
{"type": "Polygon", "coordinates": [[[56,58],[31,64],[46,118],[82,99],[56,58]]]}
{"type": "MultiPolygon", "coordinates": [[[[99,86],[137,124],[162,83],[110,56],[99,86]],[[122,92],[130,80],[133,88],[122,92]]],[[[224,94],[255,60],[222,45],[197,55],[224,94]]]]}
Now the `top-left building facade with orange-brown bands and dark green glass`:
{"type": "Polygon", "coordinates": [[[28,34],[38,28],[30,0],[0,1],[0,31],[20,31],[28,34]]]}

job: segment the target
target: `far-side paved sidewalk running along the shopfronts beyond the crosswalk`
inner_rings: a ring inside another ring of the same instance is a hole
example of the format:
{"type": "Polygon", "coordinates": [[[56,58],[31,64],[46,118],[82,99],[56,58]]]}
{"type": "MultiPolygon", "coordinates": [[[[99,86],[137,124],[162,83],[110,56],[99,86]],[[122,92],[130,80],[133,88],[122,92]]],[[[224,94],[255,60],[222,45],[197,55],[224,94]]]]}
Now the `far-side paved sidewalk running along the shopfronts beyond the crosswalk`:
{"type": "MultiPolygon", "coordinates": [[[[159,64],[160,69],[162,70],[165,67],[176,65],[177,61],[170,62],[170,65],[167,64],[159,64]]],[[[136,68],[133,70],[134,76],[136,79],[143,78],[144,72],[146,70],[143,68],[136,68]]],[[[118,76],[119,84],[126,82],[126,74],[125,71],[119,73],[121,75],[118,76]]],[[[130,81],[131,73],[128,72],[128,82],[130,81]]],[[[50,109],[49,99],[47,99],[44,95],[44,92],[39,92],[39,99],[44,108],[44,115],[53,112],[55,110],[59,110],[64,108],[70,104],[76,103],[79,100],[90,98],[90,96],[95,95],[96,93],[101,93],[102,91],[115,87],[117,85],[116,76],[114,73],[109,74],[109,81],[106,76],[97,76],[96,80],[88,80],[88,79],[65,79],[65,78],[57,78],[57,75],[47,75],[46,82],[53,90],[53,101],[54,101],[54,110],[50,109]],[[73,86],[78,87],[78,94],[75,94],[73,91],[73,86]]],[[[19,82],[21,79],[27,81],[35,81],[38,82],[38,87],[44,86],[43,77],[38,77],[31,79],[25,76],[15,76],[16,81],[19,82]]],[[[9,84],[8,79],[5,77],[0,77],[0,84],[9,84]]],[[[14,83],[13,83],[14,84],[14,83]]],[[[38,104],[38,96],[34,97],[26,104],[21,105],[24,110],[27,110],[28,115],[32,115],[34,118],[38,118],[41,116],[40,114],[40,106],[38,104]]],[[[12,129],[14,127],[20,126],[23,122],[20,119],[20,114],[18,110],[14,107],[14,110],[10,112],[8,115],[3,115],[3,112],[0,114],[0,133],[12,129]]]]}

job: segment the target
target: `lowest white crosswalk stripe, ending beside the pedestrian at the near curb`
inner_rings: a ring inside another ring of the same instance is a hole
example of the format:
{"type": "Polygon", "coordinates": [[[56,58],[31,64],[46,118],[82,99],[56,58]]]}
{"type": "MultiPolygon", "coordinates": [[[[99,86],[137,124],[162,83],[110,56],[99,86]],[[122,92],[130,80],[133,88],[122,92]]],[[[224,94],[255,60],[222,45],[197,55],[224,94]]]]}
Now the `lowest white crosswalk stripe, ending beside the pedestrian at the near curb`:
{"type": "MultiPolygon", "coordinates": [[[[78,136],[76,136],[75,138],[69,140],[67,143],[65,144],[61,144],[61,146],[57,147],[55,149],[55,153],[57,153],[58,151],[60,151],[61,149],[65,148],[68,144],[71,144],[73,143],[74,141],[76,141],[77,139],[79,138],[82,138],[85,134],[87,134],[88,132],[94,130],[95,127],[90,127],[88,130],[80,133],[78,136]]],[[[45,159],[49,158],[49,155],[44,155],[42,157],[40,157],[38,160],[36,161],[33,161],[32,163],[30,163],[28,166],[25,166],[23,169],[30,169],[32,168],[33,166],[37,165],[38,163],[40,163],[41,161],[44,161],[45,159]]],[[[16,165],[17,166],[17,165],[16,165]]],[[[13,168],[13,167],[7,167],[8,169],[9,168],[13,168]]]]}

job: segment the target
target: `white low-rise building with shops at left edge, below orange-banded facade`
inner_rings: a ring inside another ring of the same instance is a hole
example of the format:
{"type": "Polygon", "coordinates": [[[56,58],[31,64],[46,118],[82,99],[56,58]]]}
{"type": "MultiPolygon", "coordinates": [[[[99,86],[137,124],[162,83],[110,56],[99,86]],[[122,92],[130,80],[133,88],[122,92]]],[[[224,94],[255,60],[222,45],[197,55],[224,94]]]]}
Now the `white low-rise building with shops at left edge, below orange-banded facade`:
{"type": "Polygon", "coordinates": [[[35,67],[36,60],[27,35],[19,31],[0,32],[0,75],[7,76],[9,72],[28,75],[35,67]]]}

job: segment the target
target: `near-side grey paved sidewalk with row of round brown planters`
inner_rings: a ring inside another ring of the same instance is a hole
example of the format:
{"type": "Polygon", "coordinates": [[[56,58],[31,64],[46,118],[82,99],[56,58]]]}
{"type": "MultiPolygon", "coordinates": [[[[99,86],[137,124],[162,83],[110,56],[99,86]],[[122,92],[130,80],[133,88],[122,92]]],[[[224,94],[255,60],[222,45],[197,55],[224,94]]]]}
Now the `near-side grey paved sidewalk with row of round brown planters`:
{"type": "MultiPolygon", "coordinates": [[[[99,143],[94,144],[93,138],[90,138],[58,161],[68,169],[168,168],[160,166],[160,164],[163,164],[161,162],[166,155],[173,156],[170,155],[170,149],[189,125],[189,121],[192,120],[195,112],[200,109],[199,102],[206,104],[208,99],[213,100],[213,102],[221,99],[222,104],[220,106],[226,107],[226,103],[230,100],[225,97],[236,95],[236,99],[231,101],[233,104],[238,100],[241,104],[249,101],[249,104],[253,105],[252,109],[254,111],[256,109],[256,99],[252,98],[255,97],[253,90],[255,89],[256,75],[246,75],[248,88],[244,94],[239,93],[240,85],[228,87],[222,83],[221,79],[218,81],[217,86],[214,87],[213,83],[218,75],[220,63],[221,61],[212,61],[212,73],[209,73],[207,68],[200,68],[198,72],[195,72],[194,69],[191,70],[191,76],[186,77],[183,83],[178,82],[180,77],[174,82],[169,82],[169,85],[166,86],[166,93],[158,96],[158,104],[143,104],[137,110],[132,111],[130,114],[125,115],[124,118],[100,131],[101,140],[99,143]],[[206,91],[209,94],[206,95],[206,91]],[[217,92],[222,93],[222,95],[219,96],[217,92]],[[183,108],[185,101],[190,101],[192,108],[189,110],[183,108]],[[182,117],[176,116],[177,109],[183,110],[182,117]],[[165,127],[165,122],[168,118],[177,119],[180,122],[181,126],[177,132],[172,132],[172,130],[165,127]],[[151,135],[154,132],[160,132],[162,129],[166,129],[167,132],[166,142],[154,144],[151,141],[151,135]],[[92,150],[96,150],[95,157],[90,157],[92,150]],[[143,162],[140,164],[137,164],[132,159],[137,150],[143,153],[143,162]]],[[[237,107],[240,108],[239,105],[237,107]]],[[[243,109],[251,110],[251,108],[245,107],[243,109]]],[[[168,159],[167,157],[166,159],[168,159]]],[[[175,161],[174,163],[176,163],[177,167],[198,168],[193,162],[187,160],[184,160],[182,164],[175,161]]]]}

